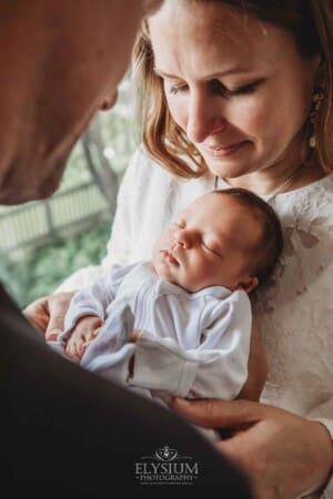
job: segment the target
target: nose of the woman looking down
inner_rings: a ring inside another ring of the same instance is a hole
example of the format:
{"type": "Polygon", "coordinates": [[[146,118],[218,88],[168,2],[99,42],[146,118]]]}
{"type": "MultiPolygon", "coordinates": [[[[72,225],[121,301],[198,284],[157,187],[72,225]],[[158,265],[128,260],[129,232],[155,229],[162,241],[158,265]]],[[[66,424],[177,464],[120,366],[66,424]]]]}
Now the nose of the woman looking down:
{"type": "Polygon", "coordinates": [[[191,142],[201,143],[206,138],[223,132],[226,120],[216,96],[192,94],[189,100],[186,134],[191,142]]]}

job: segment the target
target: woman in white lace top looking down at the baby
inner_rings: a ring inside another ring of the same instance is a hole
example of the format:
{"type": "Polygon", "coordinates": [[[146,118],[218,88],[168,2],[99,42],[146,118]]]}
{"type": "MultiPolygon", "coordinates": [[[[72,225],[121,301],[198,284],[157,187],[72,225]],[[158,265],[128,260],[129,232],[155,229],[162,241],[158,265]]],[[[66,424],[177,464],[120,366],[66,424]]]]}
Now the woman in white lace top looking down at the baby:
{"type": "MultiPolygon", "coordinates": [[[[134,53],[144,147],[125,174],[104,265],[150,256],[173,214],[213,186],[262,195],[284,226],[284,256],[253,305],[266,405],[174,404],[195,424],[233,429],[218,446],[258,498],[333,498],[332,33],[331,1],[167,0],[134,53]]],[[[58,298],[41,303],[56,320],[58,298]]],[[[28,314],[38,322],[36,305],[28,314]]]]}

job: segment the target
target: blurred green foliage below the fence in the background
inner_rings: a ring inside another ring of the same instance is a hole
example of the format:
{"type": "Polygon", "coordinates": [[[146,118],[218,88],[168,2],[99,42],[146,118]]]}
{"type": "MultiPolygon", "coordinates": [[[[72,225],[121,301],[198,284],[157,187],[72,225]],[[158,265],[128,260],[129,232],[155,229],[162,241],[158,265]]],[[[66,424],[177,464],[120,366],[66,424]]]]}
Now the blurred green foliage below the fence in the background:
{"type": "Polygon", "coordinates": [[[99,264],[105,255],[109,236],[110,221],[74,237],[57,237],[24,252],[21,258],[2,257],[0,279],[23,308],[53,293],[74,271],[99,264]]]}

